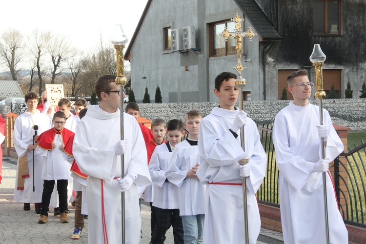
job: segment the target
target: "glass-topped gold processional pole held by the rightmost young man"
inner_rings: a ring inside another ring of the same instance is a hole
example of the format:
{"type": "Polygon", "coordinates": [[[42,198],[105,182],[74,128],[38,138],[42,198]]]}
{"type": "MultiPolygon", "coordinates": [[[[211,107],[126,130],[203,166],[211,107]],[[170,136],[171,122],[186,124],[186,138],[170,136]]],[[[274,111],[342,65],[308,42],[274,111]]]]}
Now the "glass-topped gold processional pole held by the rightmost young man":
{"type": "MultiPolygon", "coordinates": [[[[326,59],[325,54],[320,48],[320,44],[314,44],[313,53],[310,56],[310,61],[315,67],[316,78],[316,93],[315,99],[319,101],[319,119],[320,125],[323,125],[323,99],[325,99],[325,91],[323,90],[323,64],[326,59]]],[[[321,138],[322,159],[325,159],[325,143],[324,138],[321,138]]],[[[329,244],[329,223],[328,223],[328,201],[326,197],[326,172],[323,172],[323,194],[324,194],[324,214],[325,214],[325,235],[326,244],[329,244]]]]}

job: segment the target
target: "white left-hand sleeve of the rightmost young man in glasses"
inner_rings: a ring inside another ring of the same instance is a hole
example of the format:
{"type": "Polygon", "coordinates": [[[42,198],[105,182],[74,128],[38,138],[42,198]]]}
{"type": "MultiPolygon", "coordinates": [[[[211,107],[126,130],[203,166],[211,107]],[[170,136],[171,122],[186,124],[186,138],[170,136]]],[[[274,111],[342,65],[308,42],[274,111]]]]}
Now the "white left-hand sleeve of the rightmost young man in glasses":
{"type": "Polygon", "coordinates": [[[290,133],[285,116],[280,112],[273,125],[276,163],[285,180],[296,190],[300,190],[310,176],[314,163],[307,162],[304,158],[292,154],[289,146],[290,133]]]}

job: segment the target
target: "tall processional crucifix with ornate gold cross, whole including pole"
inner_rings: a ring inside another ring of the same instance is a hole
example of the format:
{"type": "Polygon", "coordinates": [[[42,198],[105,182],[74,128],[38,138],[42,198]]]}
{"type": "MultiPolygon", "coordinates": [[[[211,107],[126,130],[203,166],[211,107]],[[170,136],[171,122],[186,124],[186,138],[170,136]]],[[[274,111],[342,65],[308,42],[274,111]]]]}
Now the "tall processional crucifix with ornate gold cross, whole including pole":
{"type": "MultiPolygon", "coordinates": [[[[244,37],[248,37],[249,41],[252,41],[252,38],[256,35],[253,32],[252,28],[249,27],[247,32],[242,32],[242,24],[241,22],[243,19],[236,13],[236,16],[231,19],[231,21],[235,22],[235,29],[233,32],[227,31],[225,27],[224,31],[220,33],[221,36],[224,37],[225,41],[228,40],[229,37],[233,37],[236,39],[236,52],[237,52],[237,61],[238,64],[233,69],[235,69],[239,76],[235,80],[235,85],[239,88],[239,109],[243,110],[243,88],[246,84],[245,79],[242,77],[242,71],[244,70],[244,66],[242,65],[241,58],[242,58],[242,39],[244,37]]],[[[242,148],[245,152],[245,140],[244,140],[244,126],[240,128],[240,140],[242,148]]],[[[241,165],[249,163],[249,159],[245,157],[244,159],[240,160],[238,163],[241,165]]],[[[245,243],[249,244],[249,229],[248,229],[248,206],[247,206],[247,197],[246,197],[246,179],[243,177],[243,203],[244,203],[244,229],[245,229],[245,243]]]]}

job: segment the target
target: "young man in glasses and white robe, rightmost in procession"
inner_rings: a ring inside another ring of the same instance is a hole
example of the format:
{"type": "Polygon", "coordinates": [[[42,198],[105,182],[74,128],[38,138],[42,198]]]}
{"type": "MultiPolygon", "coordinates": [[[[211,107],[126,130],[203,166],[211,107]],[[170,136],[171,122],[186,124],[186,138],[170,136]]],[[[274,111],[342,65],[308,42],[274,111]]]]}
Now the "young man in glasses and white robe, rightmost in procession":
{"type": "Polygon", "coordinates": [[[308,100],[313,83],[309,82],[307,71],[291,73],[287,83],[294,100],[277,114],[273,127],[285,244],[326,243],[323,172],[326,173],[329,241],[346,244],[347,229],[328,171],[329,163],[343,151],[343,143],[325,109],[324,125],[319,125],[319,106],[308,100]],[[322,138],[325,141],[324,160],[322,138]]]}

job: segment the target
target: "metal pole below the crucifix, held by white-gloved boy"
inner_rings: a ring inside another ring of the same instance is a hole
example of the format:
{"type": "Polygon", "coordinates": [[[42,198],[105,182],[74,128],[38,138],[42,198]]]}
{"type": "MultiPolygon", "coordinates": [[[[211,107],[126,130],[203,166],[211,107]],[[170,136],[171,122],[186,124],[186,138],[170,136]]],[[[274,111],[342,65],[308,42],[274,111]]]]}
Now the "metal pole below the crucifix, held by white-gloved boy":
{"type": "MultiPolygon", "coordinates": [[[[235,81],[236,86],[239,88],[239,109],[243,110],[243,87],[245,86],[245,80],[239,75],[237,81],[235,81]],[[241,81],[238,81],[242,79],[241,81]]],[[[240,128],[240,142],[242,148],[245,152],[245,137],[244,137],[244,126],[240,128]]],[[[249,159],[245,157],[238,162],[241,165],[249,163],[249,159]]],[[[244,229],[245,229],[245,244],[249,244],[249,229],[248,229],[248,205],[246,197],[246,178],[243,177],[243,206],[244,206],[244,229]]]]}

